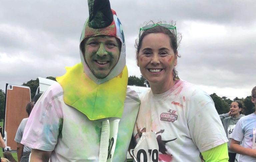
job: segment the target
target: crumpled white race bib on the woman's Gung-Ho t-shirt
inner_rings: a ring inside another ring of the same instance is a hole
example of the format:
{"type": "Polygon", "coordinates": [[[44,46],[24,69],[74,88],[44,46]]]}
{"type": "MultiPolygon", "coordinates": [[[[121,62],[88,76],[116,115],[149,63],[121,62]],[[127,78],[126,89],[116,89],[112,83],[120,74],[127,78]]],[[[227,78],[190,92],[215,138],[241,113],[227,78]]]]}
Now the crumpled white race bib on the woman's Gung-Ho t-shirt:
{"type": "Polygon", "coordinates": [[[144,132],[130,155],[135,162],[159,162],[158,144],[155,132],[144,132]]]}

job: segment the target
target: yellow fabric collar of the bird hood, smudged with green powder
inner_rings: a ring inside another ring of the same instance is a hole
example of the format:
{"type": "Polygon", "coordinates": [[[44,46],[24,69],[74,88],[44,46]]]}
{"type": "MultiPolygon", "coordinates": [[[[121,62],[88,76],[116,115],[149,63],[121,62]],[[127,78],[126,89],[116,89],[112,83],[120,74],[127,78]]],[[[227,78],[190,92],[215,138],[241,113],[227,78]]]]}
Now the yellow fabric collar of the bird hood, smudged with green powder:
{"type": "Polygon", "coordinates": [[[99,85],[86,76],[82,63],[66,70],[66,74],[56,80],[63,88],[67,105],[90,120],[122,117],[128,83],[126,66],[117,77],[99,85]]]}

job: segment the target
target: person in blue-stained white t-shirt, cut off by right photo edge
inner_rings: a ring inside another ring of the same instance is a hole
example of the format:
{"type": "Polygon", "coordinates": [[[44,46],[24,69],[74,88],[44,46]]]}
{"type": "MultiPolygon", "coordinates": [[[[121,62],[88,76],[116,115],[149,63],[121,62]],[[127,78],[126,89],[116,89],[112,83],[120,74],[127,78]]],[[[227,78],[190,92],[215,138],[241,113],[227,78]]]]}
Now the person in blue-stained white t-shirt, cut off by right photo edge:
{"type": "MultiPolygon", "coordinates": [[[[252,88],[252,103],[256,107],[256,86],[252,88]]],[[[256,161],[256,110],[242,117],[231,135],[230,149],[236,152],[236,162],[256,161]]]]}

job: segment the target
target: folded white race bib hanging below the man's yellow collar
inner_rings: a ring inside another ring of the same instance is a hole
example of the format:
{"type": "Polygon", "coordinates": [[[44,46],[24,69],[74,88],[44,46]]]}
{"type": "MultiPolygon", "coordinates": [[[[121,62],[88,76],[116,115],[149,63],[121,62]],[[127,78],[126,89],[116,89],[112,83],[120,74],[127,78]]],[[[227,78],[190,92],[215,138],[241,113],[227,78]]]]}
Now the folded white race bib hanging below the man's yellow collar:
{"type": "Polygon", "coordinates": [[[102,122],[99,162],[112,162],[120,119],[102,122]]]}

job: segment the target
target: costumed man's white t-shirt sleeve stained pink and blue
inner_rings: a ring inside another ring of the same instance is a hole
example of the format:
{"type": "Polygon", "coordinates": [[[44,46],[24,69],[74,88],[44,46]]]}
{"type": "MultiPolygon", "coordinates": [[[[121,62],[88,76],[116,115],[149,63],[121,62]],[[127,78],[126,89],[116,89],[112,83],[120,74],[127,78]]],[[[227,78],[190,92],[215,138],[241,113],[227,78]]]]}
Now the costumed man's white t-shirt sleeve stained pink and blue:
{"type": "Polygon", "coordinates": [[[24,130],[22,144],[32,149],[54,150],[63,121],[61,104],[58,95],[54,94],[58,94],[58,90],[50,86],[35,104],[24,130]]]}

